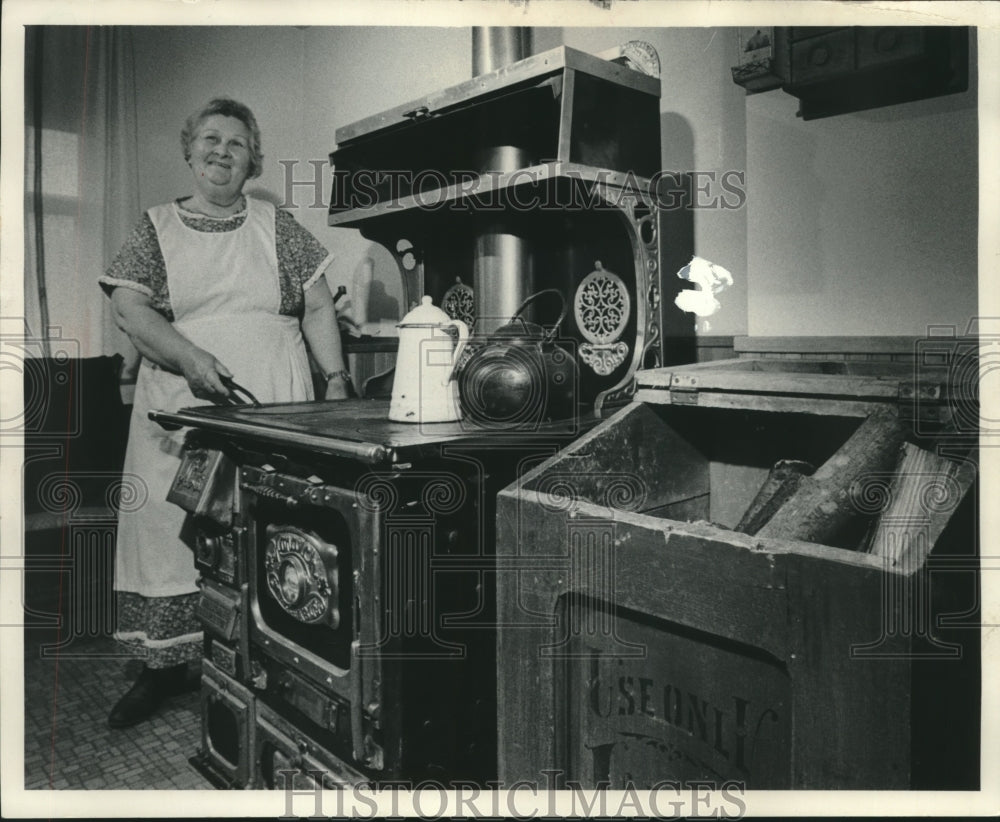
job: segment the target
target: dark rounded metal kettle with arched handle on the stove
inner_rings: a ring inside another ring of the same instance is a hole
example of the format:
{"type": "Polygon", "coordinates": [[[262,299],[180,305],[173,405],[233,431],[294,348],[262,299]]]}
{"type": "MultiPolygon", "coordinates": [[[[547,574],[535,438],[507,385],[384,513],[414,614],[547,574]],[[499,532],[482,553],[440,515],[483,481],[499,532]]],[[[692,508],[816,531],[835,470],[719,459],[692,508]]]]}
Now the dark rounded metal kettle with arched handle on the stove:
{"type": "Polygon", "coordinates": [[[555,337],[566,316],[566,300],[555,288],[532,294],[510,321],[489,336],[469,342],[459,366],[458,389],[466,417],[484,426],[534,424],[576,413],[576,358],[555,337]],[[521,312],[545,294],[559,297],[559,318],[551,328],[527,322],[521,312]]]}

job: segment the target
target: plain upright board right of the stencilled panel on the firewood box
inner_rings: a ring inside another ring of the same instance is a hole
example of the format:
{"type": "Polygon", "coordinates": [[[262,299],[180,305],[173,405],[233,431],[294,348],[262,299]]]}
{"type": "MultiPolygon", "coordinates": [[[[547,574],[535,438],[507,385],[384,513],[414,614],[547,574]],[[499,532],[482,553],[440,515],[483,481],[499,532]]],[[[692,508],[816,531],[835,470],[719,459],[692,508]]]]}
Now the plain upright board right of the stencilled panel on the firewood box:
{"type": "MultiPolygon", "coordinates": [[[[794,682],[791,787],[910,786],[909,638],[891,635],[886,574],[790,555],[789,672],[794,682]],[[882,654],[858,649],[879,644],[882,654]]],[[[905,585],[906,577],[891,575],[905,585]]]]}

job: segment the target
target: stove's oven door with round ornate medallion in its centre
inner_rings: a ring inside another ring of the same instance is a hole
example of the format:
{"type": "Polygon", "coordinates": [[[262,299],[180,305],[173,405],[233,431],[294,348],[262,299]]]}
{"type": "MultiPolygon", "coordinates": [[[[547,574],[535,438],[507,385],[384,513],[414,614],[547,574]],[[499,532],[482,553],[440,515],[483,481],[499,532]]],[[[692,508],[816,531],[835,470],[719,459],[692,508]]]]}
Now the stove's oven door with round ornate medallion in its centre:
{"type": "Polygon", "coordinates": [[[262,699],[348,765],[383,771],[380,518],[350,488],[246,466],[250,676],[262,699]]]}

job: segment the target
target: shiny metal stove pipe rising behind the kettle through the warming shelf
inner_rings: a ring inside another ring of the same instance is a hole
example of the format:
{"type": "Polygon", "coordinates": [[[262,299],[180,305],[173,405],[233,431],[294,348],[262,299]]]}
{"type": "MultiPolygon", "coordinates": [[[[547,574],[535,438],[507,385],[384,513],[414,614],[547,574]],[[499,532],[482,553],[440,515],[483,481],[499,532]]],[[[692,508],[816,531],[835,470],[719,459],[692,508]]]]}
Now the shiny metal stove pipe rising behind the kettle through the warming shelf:
{"type": "MultiPolygon", "coordinates": [[[[473,76],[523,60],[531,53],[531,29],[477,27],[472,30],[473,76]]],[[[477,153],[481,174],[507,172],[531,164],[522,146],[493,145],[488,140],[477,153]]],[[[489,334],[504,325],[533,291],[528,244],[510,219],[484,217],[477,229],[473,259],[476,332],[489,334]]]]}

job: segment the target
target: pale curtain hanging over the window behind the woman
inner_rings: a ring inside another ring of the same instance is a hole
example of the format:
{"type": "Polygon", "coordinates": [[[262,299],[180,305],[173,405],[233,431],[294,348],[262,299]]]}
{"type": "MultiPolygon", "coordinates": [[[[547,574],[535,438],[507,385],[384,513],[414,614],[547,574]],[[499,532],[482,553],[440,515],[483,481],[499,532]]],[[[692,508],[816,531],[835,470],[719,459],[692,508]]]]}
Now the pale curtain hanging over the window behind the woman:
{"type": "Polygon", "coordinates": [[[64,341],[53,349],[78,349],[82,357],[119,352],[134,364],[97,285],[139,216],[131,32],[33,26],[26,37],[28,331],[64,341]]]}

